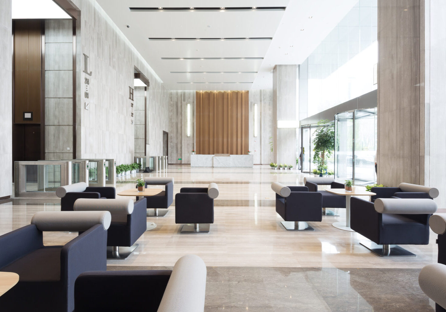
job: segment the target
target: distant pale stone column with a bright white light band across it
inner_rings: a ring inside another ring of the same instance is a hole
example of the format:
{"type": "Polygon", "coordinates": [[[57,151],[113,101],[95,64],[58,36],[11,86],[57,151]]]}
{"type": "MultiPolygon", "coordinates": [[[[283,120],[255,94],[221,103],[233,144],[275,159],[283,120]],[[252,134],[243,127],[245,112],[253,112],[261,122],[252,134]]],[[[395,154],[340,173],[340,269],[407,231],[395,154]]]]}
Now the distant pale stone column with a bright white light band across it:
{"type": "Polygon", "coordinates": [[[273,162],[296,164],[296,127],[297,65],[276,65],[273,70],[273,162]]]}

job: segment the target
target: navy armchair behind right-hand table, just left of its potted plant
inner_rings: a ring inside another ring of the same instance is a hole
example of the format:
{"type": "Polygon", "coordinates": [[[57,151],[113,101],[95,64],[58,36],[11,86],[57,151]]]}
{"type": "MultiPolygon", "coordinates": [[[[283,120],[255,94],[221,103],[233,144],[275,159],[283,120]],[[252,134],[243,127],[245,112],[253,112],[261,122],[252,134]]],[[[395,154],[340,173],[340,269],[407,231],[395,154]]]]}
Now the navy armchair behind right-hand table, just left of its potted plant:
{"type": "Polygon", "coordinates": [[[345,185],[335,182],[335,179],[330,177],[305,177],[304,184],[308,187],[309,192],[318,192],[322,194],[322,215],[323,216],[337,216],[333,211],[326,210],[330,208],[345,208],[345,196],[333,194],[324,190],[318,191],[318,185],[330,185],[331,189],[344,189],[345,185]]]}

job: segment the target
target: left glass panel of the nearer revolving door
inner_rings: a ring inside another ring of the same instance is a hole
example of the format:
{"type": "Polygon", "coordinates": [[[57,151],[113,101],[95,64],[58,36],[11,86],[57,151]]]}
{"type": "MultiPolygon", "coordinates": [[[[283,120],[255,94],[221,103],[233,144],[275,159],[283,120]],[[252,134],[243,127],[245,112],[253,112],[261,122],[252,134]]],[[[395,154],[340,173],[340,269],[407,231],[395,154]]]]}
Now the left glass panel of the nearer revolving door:
{"type": "Polygon", "coordinates": [[[335,116],[335,179],[353,179],[353,112],[335,116]]]}

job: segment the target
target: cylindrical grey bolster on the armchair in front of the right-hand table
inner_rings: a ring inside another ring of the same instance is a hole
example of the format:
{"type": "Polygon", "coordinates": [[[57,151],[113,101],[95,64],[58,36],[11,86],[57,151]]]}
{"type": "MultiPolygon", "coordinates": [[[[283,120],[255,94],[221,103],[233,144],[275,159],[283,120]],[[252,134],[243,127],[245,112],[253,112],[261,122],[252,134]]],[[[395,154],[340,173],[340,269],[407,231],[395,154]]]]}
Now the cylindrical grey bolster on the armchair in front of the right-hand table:
{"type": "Polygon", "coordinates": [[[437,211],[437,204],[429,198],[378,198],[375,210],[379,213],[424,214],[437,211]]]}

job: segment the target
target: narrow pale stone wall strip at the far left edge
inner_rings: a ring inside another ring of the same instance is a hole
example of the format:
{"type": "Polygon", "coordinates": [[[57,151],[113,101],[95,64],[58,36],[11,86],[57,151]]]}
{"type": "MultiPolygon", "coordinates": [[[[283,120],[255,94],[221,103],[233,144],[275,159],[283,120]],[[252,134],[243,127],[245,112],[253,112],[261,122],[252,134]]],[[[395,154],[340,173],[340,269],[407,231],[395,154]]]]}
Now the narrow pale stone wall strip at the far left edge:
{"type": "Polygon", "coordinates": [[[0,198],[12,195],[11,2],[0,1],[0,198]]]}

